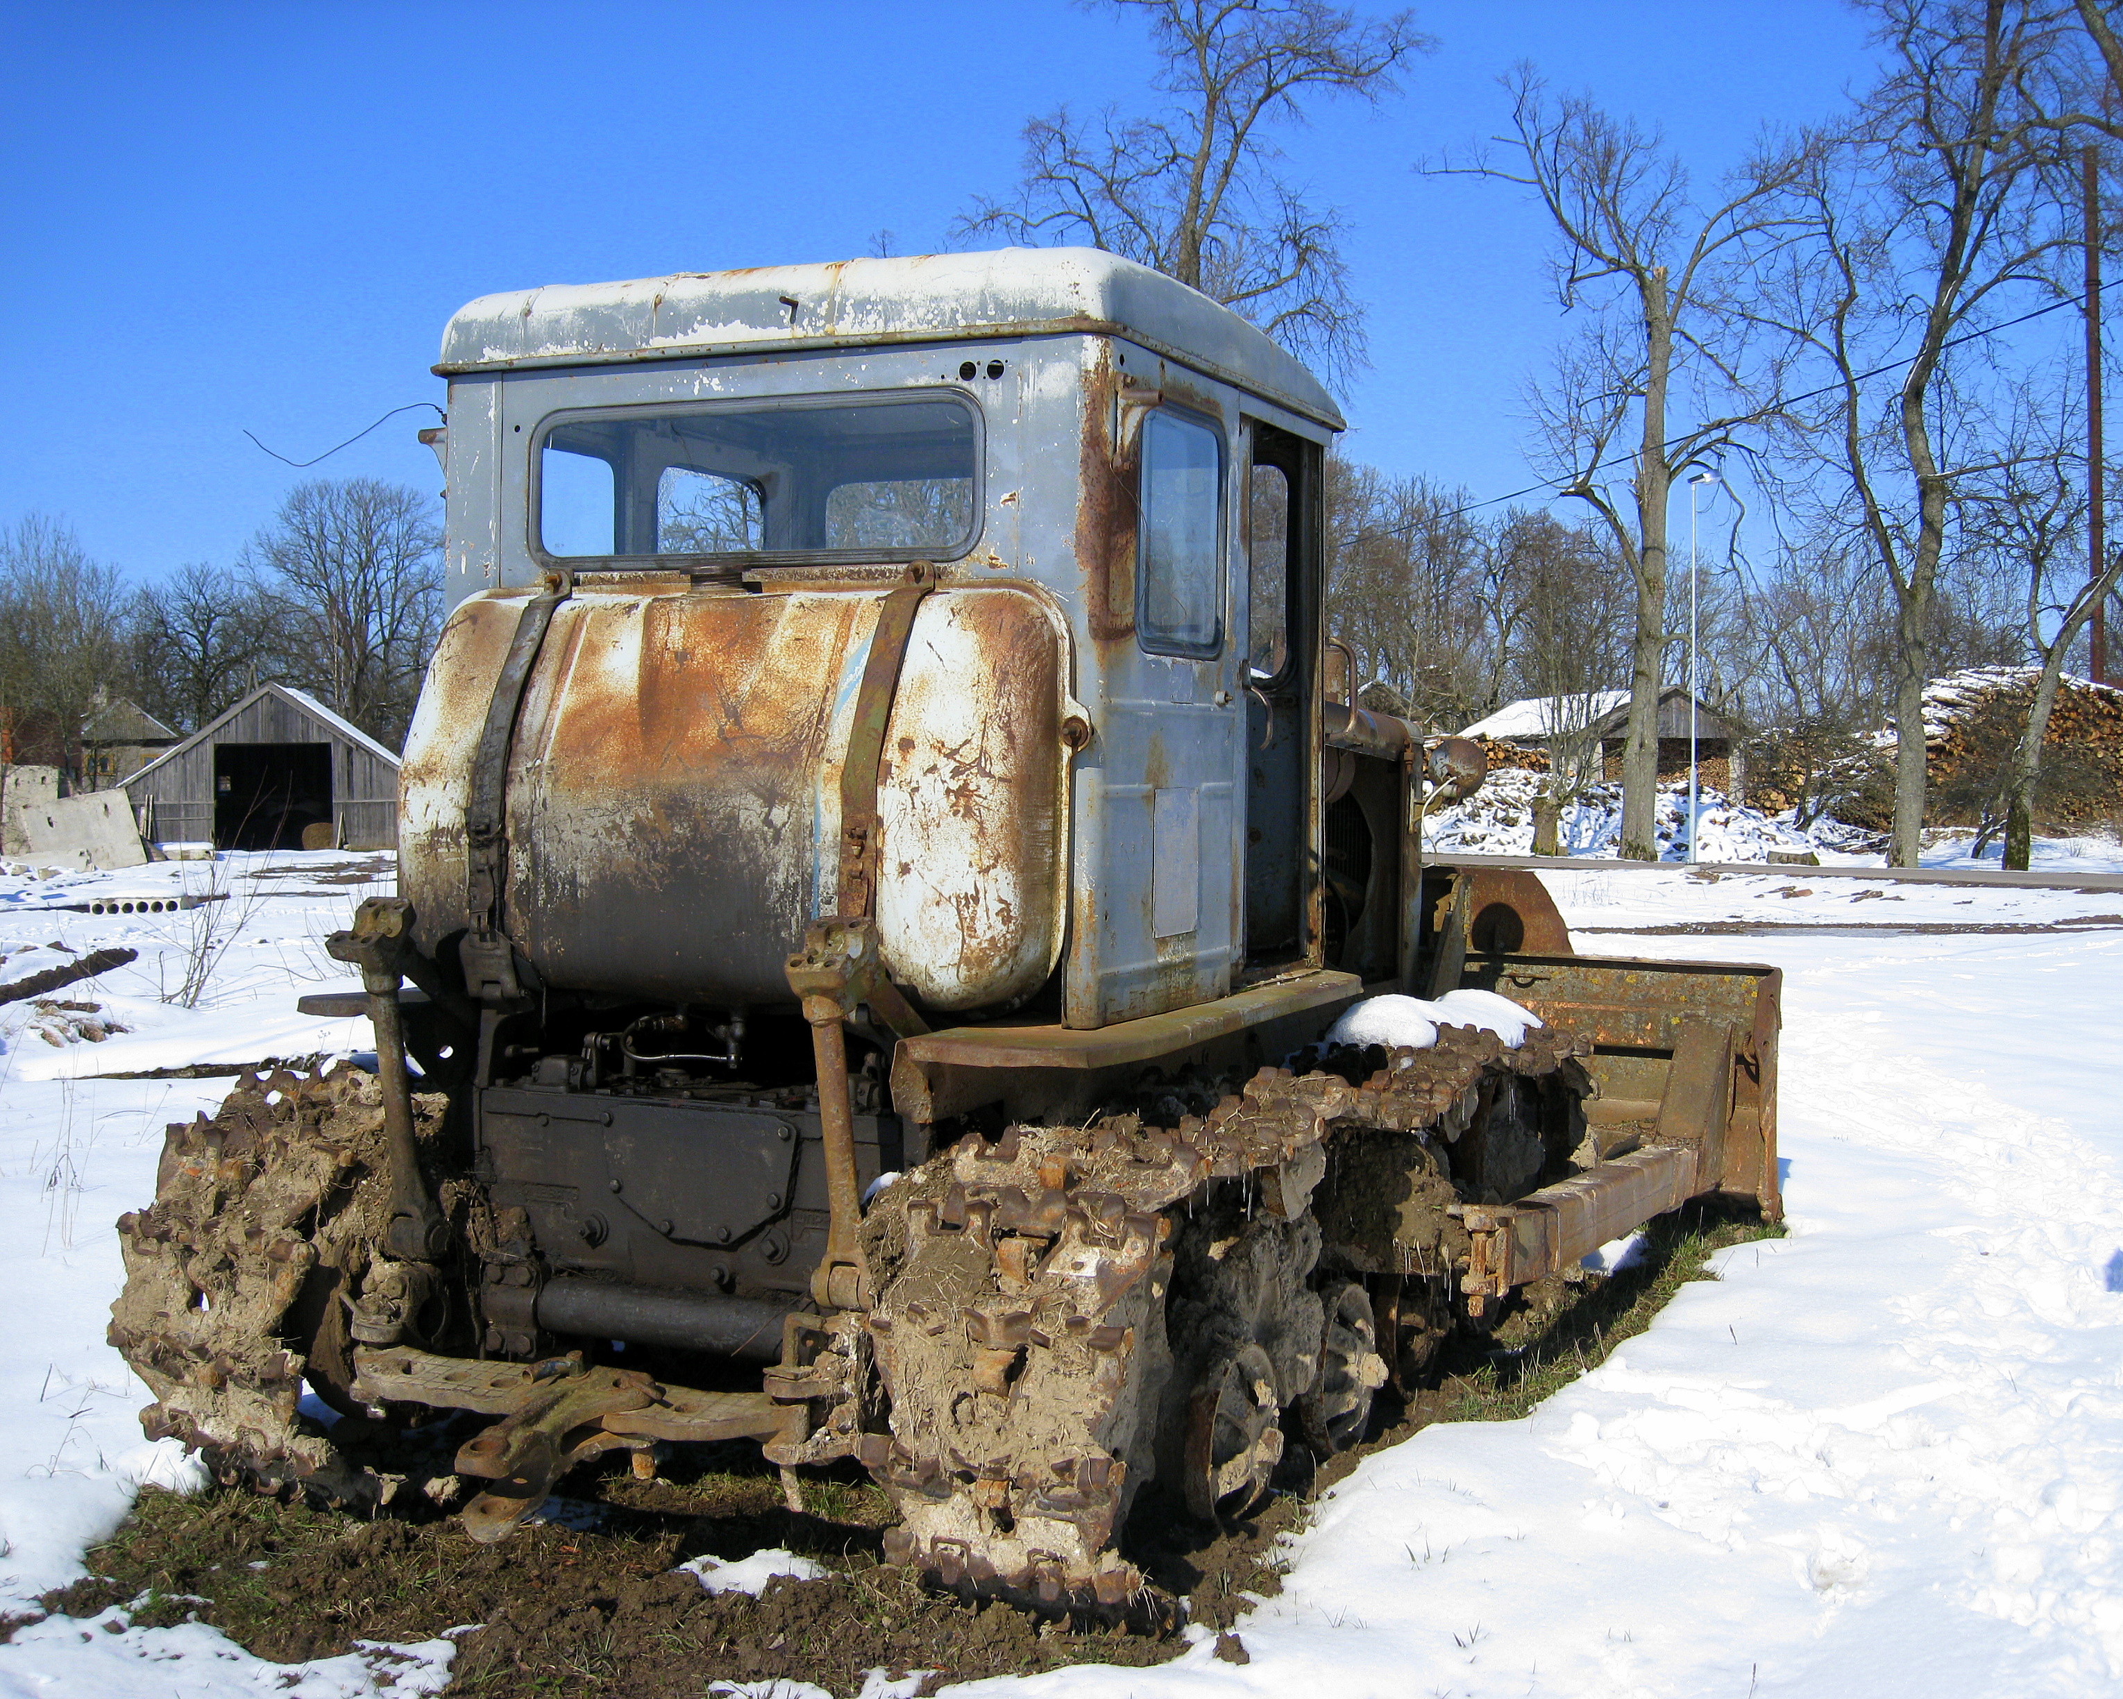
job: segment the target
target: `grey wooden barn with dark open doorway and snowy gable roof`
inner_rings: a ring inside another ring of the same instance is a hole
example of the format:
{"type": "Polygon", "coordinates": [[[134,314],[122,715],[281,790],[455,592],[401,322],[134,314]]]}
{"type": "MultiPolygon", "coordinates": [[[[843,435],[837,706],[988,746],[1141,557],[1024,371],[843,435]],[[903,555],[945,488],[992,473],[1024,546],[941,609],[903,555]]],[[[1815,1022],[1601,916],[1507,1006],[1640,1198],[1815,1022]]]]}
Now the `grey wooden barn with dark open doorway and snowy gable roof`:
{"type": "Polygon", "coordinates": [[[149,843],[395,849],[397,769],[316,697],[261,684],[123,788],[149,843]]]}

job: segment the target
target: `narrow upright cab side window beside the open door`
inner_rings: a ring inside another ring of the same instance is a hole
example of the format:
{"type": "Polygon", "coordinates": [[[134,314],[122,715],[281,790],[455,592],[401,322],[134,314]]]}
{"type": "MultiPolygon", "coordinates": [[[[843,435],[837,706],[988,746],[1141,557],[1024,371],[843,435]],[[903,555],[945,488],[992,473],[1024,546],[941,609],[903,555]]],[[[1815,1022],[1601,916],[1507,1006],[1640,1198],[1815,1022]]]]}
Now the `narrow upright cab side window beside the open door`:
{"type": "Polygon", "coordinates": [[[1142,421],[1136,635],[1151,654],[1223,648],[1223,437],[1159,408],[1142,421]]]}

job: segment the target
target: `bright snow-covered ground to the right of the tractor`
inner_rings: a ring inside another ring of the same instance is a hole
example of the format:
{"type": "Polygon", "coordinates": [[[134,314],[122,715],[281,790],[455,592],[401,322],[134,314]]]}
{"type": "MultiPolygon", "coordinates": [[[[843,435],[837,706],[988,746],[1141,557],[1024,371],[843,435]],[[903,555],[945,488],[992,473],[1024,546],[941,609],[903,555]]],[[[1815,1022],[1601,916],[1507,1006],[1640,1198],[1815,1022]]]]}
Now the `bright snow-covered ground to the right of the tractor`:
{"type": "Polygon", "coordinates": [[[1204,1644],[1034,1686],[2115,1688],[2123,941],[1658,943],[1788,968],[1792,1238],[1724,1253],[1529,1421],[1367,1459],[1242,1625],[1244,1669],[1204,1644]]]}

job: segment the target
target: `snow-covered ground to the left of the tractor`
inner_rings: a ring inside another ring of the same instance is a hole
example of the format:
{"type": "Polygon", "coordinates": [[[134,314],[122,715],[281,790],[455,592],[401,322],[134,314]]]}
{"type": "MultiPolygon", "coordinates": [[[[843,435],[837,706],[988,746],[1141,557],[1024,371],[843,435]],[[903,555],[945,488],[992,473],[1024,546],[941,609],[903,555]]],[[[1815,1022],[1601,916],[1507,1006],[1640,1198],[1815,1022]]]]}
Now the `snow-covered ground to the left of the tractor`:
{"type": "MultiPolygon", "coordinates": [[[[359,983],[325,956],[323,937],[393,879],[386,858],[338,852],[0,873],[0,983],[89,949],[138,951],[49,994],[93,1011],[0,1005],[0,1612],[34,1610],[38,1593],[81,1576],[83,1548],[117,1527],[140,1478],[187,1478],[174,1442],[142,1442],[149,1393],[104,1344],[123,1278],[113,1223],[155,1196],[163,1126],[212,1113],[229,1081],[106,1075],[365,1045],[365,1022],[308,1019],[295,998],[359,983]],[[187,892],[219,900],[132,915],[62,907],[187,892]],[[185,1007],[193,968],[204,988],[185,1007]],[[108,1036],[72,1036],[91,1026],[108,1036]]],[[[450,1652],[433,1642],[282,1667],[210,1627],[140,1629],[113,1610],[17,1629],[0,1646],[0,1695],[410,1699],[439,1691],[450,1652]]]]}

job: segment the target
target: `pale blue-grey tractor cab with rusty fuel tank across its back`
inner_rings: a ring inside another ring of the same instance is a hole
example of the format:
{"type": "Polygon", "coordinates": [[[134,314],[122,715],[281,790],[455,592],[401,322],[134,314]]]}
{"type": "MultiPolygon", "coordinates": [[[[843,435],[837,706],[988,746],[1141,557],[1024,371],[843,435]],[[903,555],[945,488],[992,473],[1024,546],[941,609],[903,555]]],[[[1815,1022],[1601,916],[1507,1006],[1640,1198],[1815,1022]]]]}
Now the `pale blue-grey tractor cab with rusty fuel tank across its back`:
{"type": "Polygon", "coordinates": [[[1405,737],[1378,722],[1388,762],[1337,803],[1378,830],[1325,877],[1342,416],[1238,314],[1098,251],[858,259],[490,295],[437,372],[425,943],[480,926],[476,745],[565,584],[493,786],[522,975],[788,1002],[807,926],[858,909],[932,1017],[1089,1030],[1331,954],[1393,973],[1405,737]]]}

